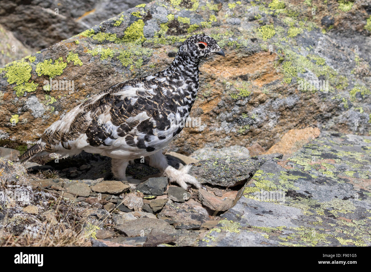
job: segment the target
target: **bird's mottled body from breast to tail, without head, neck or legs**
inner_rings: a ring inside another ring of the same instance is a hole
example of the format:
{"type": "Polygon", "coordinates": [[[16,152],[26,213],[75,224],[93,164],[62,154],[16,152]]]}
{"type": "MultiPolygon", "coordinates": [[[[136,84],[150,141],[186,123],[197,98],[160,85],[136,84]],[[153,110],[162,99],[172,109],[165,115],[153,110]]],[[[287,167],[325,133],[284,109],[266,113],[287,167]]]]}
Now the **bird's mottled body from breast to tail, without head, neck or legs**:
{"type": "Polygon", "coordinates": [[[188,117],[198,88],[195,71],[189,79],[164,70],[93,95],[50,125],[22,158],[41,151],[72,155],[85,150],[112,158],[158,151],[183,128],[172,124],[188,117]]]}

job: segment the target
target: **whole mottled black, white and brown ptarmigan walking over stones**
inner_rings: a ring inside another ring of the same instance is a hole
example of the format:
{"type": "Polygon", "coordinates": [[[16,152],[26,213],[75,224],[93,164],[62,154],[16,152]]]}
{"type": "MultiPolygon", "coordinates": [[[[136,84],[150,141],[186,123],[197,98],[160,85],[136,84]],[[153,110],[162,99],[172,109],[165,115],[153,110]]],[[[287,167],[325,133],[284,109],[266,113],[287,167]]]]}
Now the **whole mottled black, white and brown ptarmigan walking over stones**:
{"type": "Polygon", "coordinates": [[[126,181],[130,161],[149,157],[170,182],[201,188],[188,174],[192,165],[175,169],[162,154],[182,130],[197,96],[198,66],[213,55],[225,56],[216,40],[205,34],[188,37],[166,69],[129,79],[92,95],[43,132],[20,162],[48,153],[73,156],[82,151],[112,158],[112,174],[126,181]]]}

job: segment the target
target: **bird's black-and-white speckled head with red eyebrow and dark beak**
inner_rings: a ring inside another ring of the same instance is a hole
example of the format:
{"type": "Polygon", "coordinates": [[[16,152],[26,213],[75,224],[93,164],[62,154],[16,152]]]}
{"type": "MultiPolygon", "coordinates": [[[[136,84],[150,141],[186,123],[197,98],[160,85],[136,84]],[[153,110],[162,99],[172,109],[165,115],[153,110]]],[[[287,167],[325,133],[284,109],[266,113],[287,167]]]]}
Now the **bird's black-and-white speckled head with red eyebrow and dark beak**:
{"type": "Polygon", "coordinates": [[[187,38],[179,47],[178,54],[182,54],[197,62],[202,58],[207,58],[212,55],[221,55],[224,57],[223,50],[221,50],[214,38],[200,34],[187,38]]]}

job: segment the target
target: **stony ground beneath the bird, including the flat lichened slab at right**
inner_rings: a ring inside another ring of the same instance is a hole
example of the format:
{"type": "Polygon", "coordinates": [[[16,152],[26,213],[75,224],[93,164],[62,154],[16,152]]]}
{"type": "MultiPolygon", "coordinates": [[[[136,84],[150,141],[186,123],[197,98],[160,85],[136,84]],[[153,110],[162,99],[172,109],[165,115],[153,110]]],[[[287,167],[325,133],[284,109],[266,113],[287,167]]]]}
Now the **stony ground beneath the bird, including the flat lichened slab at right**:
{"type": "Polygon", "coordinates": [[[28,170],[0,158],[1,245],[371,245],[371,137],[323,132],[288,159],[236,150],[167,154],[207,188],[189,191],[145,161],[121,182],[92,154],[28,170]]]}

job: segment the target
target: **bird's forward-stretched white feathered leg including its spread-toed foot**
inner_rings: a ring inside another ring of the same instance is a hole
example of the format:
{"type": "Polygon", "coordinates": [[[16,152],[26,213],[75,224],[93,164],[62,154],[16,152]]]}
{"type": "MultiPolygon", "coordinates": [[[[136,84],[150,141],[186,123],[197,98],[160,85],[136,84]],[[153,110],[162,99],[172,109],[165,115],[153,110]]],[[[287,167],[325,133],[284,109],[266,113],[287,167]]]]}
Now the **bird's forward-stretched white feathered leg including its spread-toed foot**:
{"type": "Polygon", "coordinates": [[[152,154],[150,157],[150,165],[156,167],[161,171],[164,171],[164,175],[170,178],[170,182],[175,182],[180,185],[183,189],[187,190],[188,184],[194,185],[196,188],[201,188],[200,182],[196,178],[192,177],[190,174],[187,174],[191,169],[192,165],[187,164],[181,169],[175,169],[167,163],[167,158],[162,154],[161,150],[152,154]]]}

